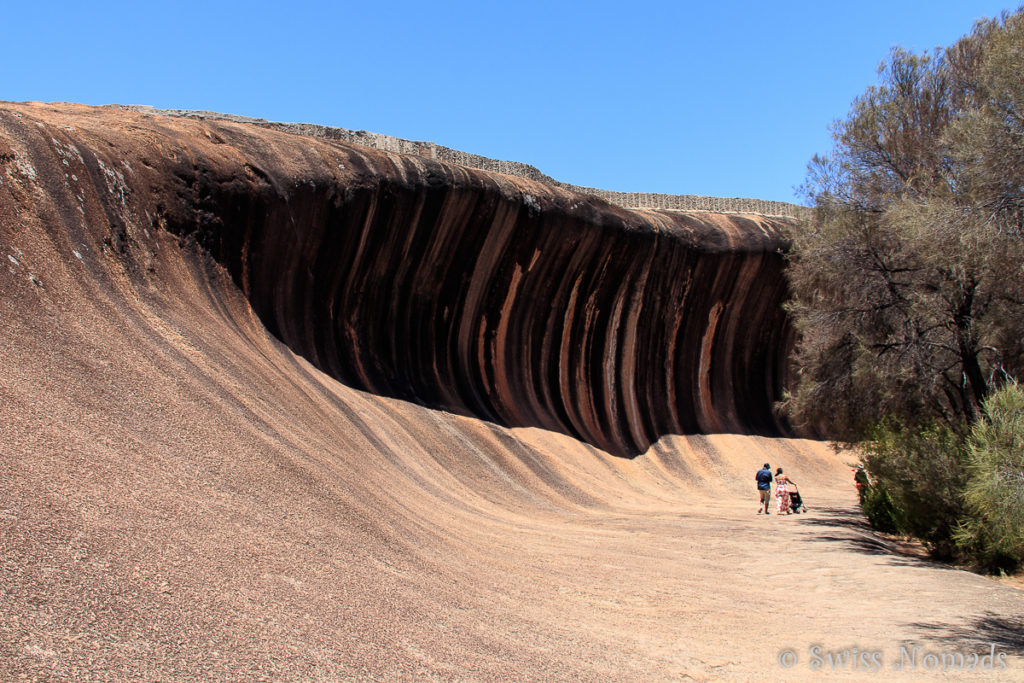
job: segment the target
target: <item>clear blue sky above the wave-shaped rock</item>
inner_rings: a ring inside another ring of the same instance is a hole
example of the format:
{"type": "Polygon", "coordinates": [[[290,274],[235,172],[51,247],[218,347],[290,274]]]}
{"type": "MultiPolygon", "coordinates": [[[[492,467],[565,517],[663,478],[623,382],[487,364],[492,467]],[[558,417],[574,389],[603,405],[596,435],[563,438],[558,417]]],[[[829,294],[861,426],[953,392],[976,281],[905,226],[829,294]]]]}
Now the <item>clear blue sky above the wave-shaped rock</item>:
{"type": "Polygon", "coordinates": [[[795,201],[894,45],[1014,2],[7,3],[0,99],[371,130],[565,182],[795,201]]]}

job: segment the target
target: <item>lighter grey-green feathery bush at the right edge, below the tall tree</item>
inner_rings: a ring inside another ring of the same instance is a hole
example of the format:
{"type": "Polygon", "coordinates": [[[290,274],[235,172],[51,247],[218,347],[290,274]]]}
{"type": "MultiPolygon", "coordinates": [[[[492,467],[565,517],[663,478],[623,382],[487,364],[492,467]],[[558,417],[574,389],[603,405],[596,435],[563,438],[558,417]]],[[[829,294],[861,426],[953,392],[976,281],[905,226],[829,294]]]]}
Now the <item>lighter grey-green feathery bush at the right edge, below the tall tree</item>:
{"type": "Polygon", "coordinates": [[[969,438],[966,517],[961,548],[990,569],[1024,564],[1024,389],[992,393],[969,438]]]}

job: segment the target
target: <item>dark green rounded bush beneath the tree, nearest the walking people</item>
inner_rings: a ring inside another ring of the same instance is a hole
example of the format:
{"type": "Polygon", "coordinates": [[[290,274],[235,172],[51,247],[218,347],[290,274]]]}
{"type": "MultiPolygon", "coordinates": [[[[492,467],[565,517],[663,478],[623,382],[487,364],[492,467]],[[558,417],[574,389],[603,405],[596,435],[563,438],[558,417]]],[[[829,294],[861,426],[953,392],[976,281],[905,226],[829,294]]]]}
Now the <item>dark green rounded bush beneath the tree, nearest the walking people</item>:
{"type": "Polygon", "coordinates": [[[890,423],[865,444],[871,485],[863,509],[881,530],[913,536],[937,557],[955,555],[954,535],[964,518],[966,441],[941,424],[890,423]]]}

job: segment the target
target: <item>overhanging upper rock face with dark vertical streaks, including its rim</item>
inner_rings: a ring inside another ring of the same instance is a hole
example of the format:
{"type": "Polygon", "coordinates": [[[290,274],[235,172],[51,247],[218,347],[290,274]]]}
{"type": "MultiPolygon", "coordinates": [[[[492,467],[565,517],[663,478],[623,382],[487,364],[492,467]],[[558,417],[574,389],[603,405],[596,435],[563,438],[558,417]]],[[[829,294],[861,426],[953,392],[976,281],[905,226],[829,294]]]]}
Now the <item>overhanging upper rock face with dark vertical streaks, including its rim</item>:
{"type": "Polygon", "coordinates": [[[95,245],[133,278],[160,276],[155,231],[200,245],[275,336],[351,386],[616,455],[787,431],[772,412],[793,337],[782,219],[627,210],[114,108],[0,106],[0,165],[8,215],[47,211],[66,249],[95,245]]]}

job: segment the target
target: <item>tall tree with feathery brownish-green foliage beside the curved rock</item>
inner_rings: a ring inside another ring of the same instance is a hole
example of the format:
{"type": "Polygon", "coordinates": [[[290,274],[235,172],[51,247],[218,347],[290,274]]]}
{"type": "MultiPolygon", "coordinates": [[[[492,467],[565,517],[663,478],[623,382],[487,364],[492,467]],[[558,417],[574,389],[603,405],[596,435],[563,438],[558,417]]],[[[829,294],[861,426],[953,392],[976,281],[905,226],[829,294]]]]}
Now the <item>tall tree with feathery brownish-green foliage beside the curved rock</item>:
{"type": "Polygon", "coordinates": [[[784,409],[845,440],[896,420],[966,434],[1024,371],[1024,8],[933,54],[894,50],[804,187],[784,409]]]}

